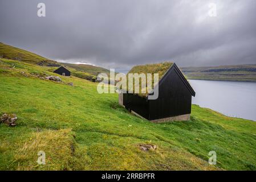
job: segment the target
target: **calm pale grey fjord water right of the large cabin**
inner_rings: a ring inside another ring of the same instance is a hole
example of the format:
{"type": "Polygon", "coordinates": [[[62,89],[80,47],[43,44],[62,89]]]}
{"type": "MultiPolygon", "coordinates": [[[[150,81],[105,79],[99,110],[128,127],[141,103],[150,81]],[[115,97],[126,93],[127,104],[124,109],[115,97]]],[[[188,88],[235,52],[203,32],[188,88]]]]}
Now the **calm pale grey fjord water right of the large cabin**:
{"type": "Polygon", "coordinates": [[[189,80],[192,103],[230,117],[256,121],[256,82],[189,80]]]}

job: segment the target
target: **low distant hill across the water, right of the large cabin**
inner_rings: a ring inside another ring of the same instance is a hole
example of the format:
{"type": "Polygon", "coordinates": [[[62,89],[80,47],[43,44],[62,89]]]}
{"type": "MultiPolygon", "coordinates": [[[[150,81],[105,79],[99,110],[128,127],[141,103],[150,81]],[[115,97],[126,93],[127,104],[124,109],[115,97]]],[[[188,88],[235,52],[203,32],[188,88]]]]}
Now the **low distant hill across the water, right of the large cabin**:
{"type": "Polygon", "coordinates": [[[191,80],[256,81],[256,64],[184,67],[181,70],[191,80]]]}

